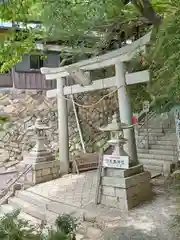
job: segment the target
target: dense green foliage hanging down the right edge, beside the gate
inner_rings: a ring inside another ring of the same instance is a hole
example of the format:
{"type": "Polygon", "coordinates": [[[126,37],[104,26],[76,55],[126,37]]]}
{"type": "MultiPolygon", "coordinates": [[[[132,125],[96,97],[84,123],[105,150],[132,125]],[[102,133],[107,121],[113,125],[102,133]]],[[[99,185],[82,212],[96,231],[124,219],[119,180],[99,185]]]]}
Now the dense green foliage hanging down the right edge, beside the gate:
{"type": "Polygon", "coordinates": [[[152,43],[147,61],[152,72],[151,93],[180,100],[180,5],[173,1],[152,43]],[[171,14],[170,14],[171,13],[171,14]]]}

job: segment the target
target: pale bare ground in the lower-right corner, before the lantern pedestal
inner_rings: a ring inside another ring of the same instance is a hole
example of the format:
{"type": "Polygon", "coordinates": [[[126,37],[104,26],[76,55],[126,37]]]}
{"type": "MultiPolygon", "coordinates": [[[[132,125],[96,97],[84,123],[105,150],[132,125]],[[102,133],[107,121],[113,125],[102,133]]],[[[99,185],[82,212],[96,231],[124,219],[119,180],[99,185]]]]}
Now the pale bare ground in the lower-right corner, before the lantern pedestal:
{"type": "MultiPolygon", "coordinates": [[[[154,191],[157,187],[154,188],[154,191]]],[[[158,189],[159,190],[159,189],[158,189]]],[[[131,210],[116,224],[107,226],[105,240],[176,240],[171,228],[172,216],[177,213],[176,199],[167,190],[157,192],[152,202],[131,210]],[[116,226],[115,226],[116,225],[116,226]]],[[[111,224],[110,224],[111,225],[111,224]]]]}

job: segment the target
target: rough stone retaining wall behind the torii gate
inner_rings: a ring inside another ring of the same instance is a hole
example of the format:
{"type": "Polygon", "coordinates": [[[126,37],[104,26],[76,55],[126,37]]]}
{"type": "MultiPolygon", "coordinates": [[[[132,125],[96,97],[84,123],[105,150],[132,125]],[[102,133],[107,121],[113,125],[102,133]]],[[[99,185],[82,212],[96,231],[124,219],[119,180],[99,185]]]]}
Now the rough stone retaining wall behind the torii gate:
{"type": "MultiPolygon", "coordinates": [[[[82,105],[91,105],[111,90],[76,94],[75,101],[82,105]]],[[[107,124],[108,118],[117,111],[116,94],[108,96],[91,108],[77,107],[78,118],[83,133],[86,150],[95,152],[106,143],[107,134],[98,129],[107,124]]],[[[69,147],[71,154],[81,150],[81,142],[72,104],[69,107],[69,147]]],[[[56,99],[47,99],[45,92],[8,90],[0,93],[0,112],[8,113],[11,122],[5,124],[0,132],[1,161],[20,161],[24,152],[34,145],[32,132],[28,131],[35,119],[41,116],[51,129],[47,131],[47,144],[58,150],[57,103],[56,99]]]]}

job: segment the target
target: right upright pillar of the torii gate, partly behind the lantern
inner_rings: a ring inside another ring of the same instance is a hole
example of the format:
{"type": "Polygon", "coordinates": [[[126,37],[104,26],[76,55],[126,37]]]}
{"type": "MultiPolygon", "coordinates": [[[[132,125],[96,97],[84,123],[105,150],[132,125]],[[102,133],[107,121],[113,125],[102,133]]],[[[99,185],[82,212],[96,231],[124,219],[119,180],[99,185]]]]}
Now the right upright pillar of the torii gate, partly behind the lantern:
{"type": "MultiPolygon", "coordinates": [[[[131,103],[126,89],[125,67],[123,62],[115,64],[116,70],[116,83],[118,88],[118,102],[119,113],[122,122],[132,124],[132,109],[131,103]]],[[[128,139],[127,144],[124,145],[125,151],[128,153],[130,160],[137,163],[137,149],[134,128],[124,130],[124,137],[128,139]]]]}

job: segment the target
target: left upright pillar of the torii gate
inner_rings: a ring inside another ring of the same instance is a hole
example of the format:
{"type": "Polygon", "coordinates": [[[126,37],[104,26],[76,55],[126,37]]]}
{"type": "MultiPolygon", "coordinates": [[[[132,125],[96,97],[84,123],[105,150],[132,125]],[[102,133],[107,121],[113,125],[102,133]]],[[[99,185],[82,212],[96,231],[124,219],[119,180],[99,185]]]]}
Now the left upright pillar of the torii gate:
{"type": "Polygon", "coordinates": [[[64,79],[57,79],[57,105],[58,105],[58,135],[59,135],[59,160],[60,173],[69,172],[69,133],[68,109],[64,98],[64,79]]]}

